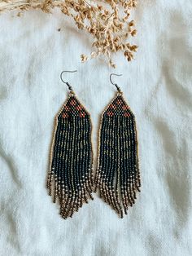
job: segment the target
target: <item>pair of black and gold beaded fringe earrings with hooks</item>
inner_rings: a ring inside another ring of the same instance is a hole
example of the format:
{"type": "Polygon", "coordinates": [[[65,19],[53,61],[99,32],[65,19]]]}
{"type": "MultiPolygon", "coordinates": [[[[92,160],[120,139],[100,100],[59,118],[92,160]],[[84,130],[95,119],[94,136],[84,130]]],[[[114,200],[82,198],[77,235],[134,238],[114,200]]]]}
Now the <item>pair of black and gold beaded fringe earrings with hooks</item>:
{"type": "Polygon", "coordinates": [[[111,81],[117,92],[101,116],[94,177],[90,114],[76,98],[72,86],[64,83],[70,92],[55,118],[47,179],[50,196],[54,192],[54,202],[59,199],[61,216],[68,218],[83,203],[93,200],[92,192],[98,190],[103,200],[123,218],[129,205],[135,203],[136,192],[140,192],[141,187],[133,112],[120,87],[111,81]]]}

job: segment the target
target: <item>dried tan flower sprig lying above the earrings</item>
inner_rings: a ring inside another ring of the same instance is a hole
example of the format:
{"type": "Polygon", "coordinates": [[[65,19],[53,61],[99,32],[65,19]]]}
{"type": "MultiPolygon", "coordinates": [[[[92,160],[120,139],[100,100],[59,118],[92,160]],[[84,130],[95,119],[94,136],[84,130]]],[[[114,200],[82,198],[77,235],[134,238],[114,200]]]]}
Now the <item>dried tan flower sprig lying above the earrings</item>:
{"type": "MultiPolygon", "coordinates": [[[[121,51],[124,57],[130,61],[133,52],[137,51],[136,45],[128,42],[134,37],[137,30],[134,29],[134,21],[130,19],[130,11],[136,7],[135,0],[2,0],[0,12],[18,10],[20,15],[29,9],[41,9],[46,13],[58,7],[64,15],[72,17],[78,29],[92,35],[94,42],[90,58],[104,55],[111,67],[113,64],[111,55],[121,51]]],[[[89,57],[81,55],[81,61],[85,62],[89,57]]]]}

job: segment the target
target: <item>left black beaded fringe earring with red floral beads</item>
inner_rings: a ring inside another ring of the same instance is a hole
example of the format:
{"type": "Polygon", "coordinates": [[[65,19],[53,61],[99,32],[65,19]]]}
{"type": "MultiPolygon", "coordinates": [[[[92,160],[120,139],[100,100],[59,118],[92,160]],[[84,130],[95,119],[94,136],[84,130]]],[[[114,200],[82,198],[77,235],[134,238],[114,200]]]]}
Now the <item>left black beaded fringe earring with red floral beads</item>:
{"type": "Polygon", "coordinates": [[[72,86],[64,83],[70,92],[55,117],[47,188],[50,196],[54,192],[54,202],[59,199],[61,216],[68,218],[84,202],[88,203],[89,198],[94,199],[91,195],[94,177],[90,115],[76,98],[72,86]]]}

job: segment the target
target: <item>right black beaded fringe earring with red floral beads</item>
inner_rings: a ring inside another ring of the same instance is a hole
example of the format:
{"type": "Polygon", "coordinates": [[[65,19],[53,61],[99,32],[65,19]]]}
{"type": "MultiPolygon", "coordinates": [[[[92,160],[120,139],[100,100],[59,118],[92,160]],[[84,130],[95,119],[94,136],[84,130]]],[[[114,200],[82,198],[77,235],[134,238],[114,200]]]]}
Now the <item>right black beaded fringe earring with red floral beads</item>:
{"type": "Polygon", "coordinates": [[[101,117],[95,183],[103,200],[123,218],[129,205],[135,203],[136,192],[140,192],[141,187],[137,129],[123,92],[117,84],[111,83],[116,86],[117,93],[101,117]]]}

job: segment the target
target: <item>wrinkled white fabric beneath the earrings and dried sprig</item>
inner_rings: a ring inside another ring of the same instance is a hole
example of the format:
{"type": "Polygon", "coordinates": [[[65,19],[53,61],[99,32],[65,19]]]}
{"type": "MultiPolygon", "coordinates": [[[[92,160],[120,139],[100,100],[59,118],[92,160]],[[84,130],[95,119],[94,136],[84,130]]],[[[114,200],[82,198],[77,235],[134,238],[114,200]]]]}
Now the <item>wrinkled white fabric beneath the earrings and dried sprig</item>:
{"type": "Polygon", "coordinates": [[[191,1],[140,1],[136,59],[116,56],[114,77],[137,117],[142,192],[123,219],[94,201],[63,220],[46,190],[55,114],[68,74],[91,113],[115,95],[102,60],[81,64],[89,36],[54,11],[0,15],[0,255],[189,256],[191,207],[191,1]],[[60,32],[57,29],[62,28],[60,32]]]}

